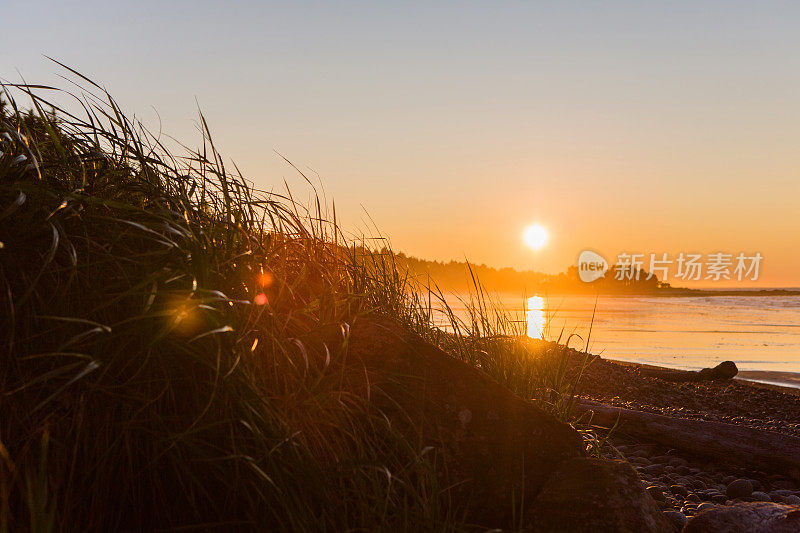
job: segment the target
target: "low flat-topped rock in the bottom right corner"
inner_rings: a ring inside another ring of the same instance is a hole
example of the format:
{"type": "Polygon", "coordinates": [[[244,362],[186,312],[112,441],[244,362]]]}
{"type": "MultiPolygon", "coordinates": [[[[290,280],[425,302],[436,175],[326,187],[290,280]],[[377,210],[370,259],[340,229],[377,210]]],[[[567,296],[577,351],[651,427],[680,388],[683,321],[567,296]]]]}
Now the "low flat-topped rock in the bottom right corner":
{"type": "Polygon", "coordinates": [[[716,507],[689,519],[683,533],[797,533],[800,507],[767,502],[716,507]]]}

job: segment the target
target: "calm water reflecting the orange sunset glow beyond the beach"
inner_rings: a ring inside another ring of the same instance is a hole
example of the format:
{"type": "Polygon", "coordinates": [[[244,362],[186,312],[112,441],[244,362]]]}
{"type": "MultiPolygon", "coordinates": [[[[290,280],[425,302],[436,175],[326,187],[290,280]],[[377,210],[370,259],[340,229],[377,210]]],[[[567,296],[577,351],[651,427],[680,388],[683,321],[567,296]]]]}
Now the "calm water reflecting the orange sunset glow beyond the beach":
{"type": "MultiPolygon", "coordinates": [[[[800,296],[685,298],[501,297],[532,337],[577,333],[608,359],[697,369],[724,360],[740,370],[800,372],[800,296]]],[[[463,305],[460,306],[463,312],[463,305]]],[[[584,344],[578,339],[570,343],[584,344]]]]}

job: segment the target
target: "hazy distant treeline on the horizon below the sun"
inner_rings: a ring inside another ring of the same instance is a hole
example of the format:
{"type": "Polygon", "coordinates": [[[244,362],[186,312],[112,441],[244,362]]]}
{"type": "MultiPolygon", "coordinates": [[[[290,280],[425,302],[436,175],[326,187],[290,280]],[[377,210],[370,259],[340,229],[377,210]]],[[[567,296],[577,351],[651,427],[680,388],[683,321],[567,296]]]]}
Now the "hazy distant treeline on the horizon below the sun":
{"type": "Polygon", "coordinates": [[[578,276],[575,266],[557,275],[544,274],[533,270],[516,270],[513,268],[494,268],[487,265],[475,265],[465,261],[428,261],[398,253],[397,264],[401,270],[423,283],[428,279],[435,282],[445,291],[468,291],[473,288],[472,275],[480,280],[481,285],[492,292],[514,293],[561,293],[561,294],[662,294],[685,289],[673,289],[669,283],[662,283],[648,272],[640,270],[634,279],[615,279],[615,268],[612,266],[605,278],[592,283],[585,283],[578,276]],[[472,273],[470,273],[470,270],[472,273]]]}

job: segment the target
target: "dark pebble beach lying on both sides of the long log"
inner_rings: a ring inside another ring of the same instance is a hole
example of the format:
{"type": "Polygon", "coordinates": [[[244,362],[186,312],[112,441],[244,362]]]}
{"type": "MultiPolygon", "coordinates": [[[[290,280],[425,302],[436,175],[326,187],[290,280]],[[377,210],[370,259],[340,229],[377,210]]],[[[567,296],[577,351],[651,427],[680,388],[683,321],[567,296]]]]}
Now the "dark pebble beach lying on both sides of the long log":
{"type": "MultiPolygon", "coordinates": [[[[573,352],[574,371],[581,360],[581,355],[573,352]]],[[[800,437],[800,389],[738,377],[722,382],[674,383],[643,375],[643,370],[657,368],[594,357],[583,373],[578,395],[636,412],[800,437]]],[[[746,376],[776,380],[770,373],[746,376]]],[[[680,446],[631,437],[619,430],[610,432],[609,441],[612,446],[604,456],[632,464],[646,490],[676,525],[706,509],[737,502],[800,503],[797,479],[777,468],[743,466],[680,446]]]]}

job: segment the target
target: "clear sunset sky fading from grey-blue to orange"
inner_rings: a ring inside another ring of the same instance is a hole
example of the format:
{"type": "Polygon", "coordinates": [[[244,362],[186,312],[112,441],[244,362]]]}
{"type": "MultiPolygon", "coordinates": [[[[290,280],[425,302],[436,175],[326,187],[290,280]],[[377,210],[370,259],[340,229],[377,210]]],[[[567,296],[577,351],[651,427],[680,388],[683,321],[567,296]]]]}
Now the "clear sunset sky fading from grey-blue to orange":
{"type": "Polygon", "coordinates": [[[800,3],[43,1],[2,17],[0,78],[65,86],[52,56],[189,145],[199,105],[259,187],[309,194],[285,156],[345,229],[374,222],[395,250],[551,273],[585,249],[758,252],[759,279],[735,285],[800,286],[800,3]]]}

